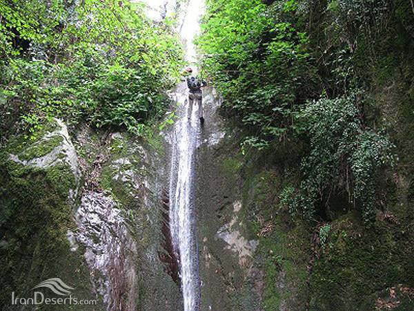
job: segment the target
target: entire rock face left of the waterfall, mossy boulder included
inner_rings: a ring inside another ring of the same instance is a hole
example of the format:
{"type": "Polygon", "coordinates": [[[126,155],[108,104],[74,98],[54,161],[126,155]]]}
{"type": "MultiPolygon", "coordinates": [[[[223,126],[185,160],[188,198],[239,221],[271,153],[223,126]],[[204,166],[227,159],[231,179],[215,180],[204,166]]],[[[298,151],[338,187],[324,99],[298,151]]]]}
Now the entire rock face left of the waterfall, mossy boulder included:
{"type": "Polygon", "coordinates": [[[0,301],[59,277],[96,310],[181,308],[163,261],[163,142],[150,143],[87,126],[70,137],[56,120],[0,150],[0,276],[10,280],[0,301]]]}

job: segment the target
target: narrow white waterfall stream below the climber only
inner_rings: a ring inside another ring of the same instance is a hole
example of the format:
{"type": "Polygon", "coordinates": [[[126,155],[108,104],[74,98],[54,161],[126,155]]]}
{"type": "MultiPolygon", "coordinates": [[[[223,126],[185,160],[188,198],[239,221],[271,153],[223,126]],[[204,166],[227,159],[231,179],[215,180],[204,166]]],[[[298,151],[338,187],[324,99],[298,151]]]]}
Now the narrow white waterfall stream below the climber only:
{"type": "MultiPolygon", "coordinates": [[[[183,87],[181,87],[182,89],[183,87]]],[[[181,100],[185,100],[185,95],[181,100]]],[[[170,177],[170,231],[179,258],[184,310],[197,310],[199,303],[197,232],[195,230],[194,167],[198,119],[188,119],[187,109],[175,124],[170,177]]]]}

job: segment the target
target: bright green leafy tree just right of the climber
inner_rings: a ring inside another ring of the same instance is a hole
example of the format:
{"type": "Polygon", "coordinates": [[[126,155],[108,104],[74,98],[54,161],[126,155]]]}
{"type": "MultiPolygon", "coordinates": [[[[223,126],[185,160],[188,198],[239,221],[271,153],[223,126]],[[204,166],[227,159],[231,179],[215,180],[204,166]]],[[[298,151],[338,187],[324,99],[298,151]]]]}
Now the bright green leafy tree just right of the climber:
{"type": "Polygon", "coordinates": [[[295,1],[207,1],[202,25],[203,68],[224,106],[250,129],[245,143],[263,148],[286,133],[293,105],[313,93],[315,68],[307,36],[292,20],[295,1]]]}

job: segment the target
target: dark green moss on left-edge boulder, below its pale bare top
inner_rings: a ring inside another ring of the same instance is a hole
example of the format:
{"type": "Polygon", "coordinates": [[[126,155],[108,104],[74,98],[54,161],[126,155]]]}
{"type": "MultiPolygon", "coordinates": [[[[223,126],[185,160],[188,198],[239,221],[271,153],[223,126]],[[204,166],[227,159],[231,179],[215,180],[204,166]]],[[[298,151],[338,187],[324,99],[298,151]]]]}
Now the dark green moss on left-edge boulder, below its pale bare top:
{"type": "Polygon", "coordinates": [[[70,168],[25,167],[8,160],[8,151],[0,158],[0,305],[6,308],[12,291],[31,296],[34,285],[52,277],[75,288],[72,294],[78,299],[95,299],[81,249],[71,252],[66,237],[76,229],[68,201],[69,189],[75,188],[70,168]]]}

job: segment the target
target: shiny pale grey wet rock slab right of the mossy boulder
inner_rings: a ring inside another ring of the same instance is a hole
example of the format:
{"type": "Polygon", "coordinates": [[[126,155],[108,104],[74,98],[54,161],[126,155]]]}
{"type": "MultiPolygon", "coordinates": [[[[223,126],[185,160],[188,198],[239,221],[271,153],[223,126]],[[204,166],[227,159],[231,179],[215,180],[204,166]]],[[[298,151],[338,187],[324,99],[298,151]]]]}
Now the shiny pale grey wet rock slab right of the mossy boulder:
{"type": "Polygon", "coordinates": [[[134,297],[138,293],[137,271],[133,258],[137,247],[120,209],[112,198],[88,191],[81,198],[76,213],[77,243],[85,247],[85,259],[96,285],[109,310],[135,310],[134,297]],[[127,298],[122,299],[126,294],[127,298]]]}

